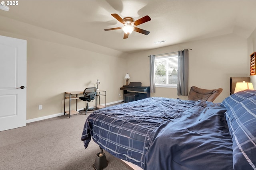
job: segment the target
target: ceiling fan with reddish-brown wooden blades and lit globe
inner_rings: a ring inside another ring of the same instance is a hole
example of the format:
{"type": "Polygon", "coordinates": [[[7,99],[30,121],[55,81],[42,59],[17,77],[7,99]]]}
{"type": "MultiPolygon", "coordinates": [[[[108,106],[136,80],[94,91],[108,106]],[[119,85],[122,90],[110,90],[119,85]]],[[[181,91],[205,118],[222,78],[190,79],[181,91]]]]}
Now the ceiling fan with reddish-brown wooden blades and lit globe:
{"type": "Polygon", "coordinates": [[[145,23],[147,21],[150,21],[151,18],[149,16],[144,16],[136,21],[132,17],[124,17],[121,18],[118,14],[111,14],[116,20],[124,24],[123,27],[116,27],[116,28],[109,28],[109,29],[104,29],[105,31],[110,31],[114,29],[122,29],[124,31],[124,39],[128,38],[129,34],[132,33],[132,31],[136,31],[138,33],[142,33],[145,35],[148,35],[150,32],[146,31],[144,29],[140,29],[136,26],[145,23]]]}

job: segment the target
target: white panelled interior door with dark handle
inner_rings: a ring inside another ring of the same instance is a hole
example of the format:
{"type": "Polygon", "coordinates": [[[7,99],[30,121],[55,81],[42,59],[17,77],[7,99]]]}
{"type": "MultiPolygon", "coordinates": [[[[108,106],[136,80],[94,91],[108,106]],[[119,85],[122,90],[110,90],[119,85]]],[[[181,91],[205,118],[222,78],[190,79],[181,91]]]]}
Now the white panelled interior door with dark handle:
{"type": "Polygon", "coordinates": [[[27,41],[0,35],[0,131],[26,126],[26,65],[27,41]]]}

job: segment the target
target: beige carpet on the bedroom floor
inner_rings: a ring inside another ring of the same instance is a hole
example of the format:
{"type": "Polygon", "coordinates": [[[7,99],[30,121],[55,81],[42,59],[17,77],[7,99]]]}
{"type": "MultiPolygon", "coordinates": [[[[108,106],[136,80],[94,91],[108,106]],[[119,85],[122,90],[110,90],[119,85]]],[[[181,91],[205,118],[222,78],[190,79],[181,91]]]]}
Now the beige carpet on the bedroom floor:
{"type": "MultiPolygon", "coordinates": [[[[100,149],[91,141],[87,149],[81,141],[87,115],[54,117],[28,123],[26,127],[0,132],[0,170],[94,170],[100,149]]],[[[106,153],[104,170],[128,170],[106,153]]]]}

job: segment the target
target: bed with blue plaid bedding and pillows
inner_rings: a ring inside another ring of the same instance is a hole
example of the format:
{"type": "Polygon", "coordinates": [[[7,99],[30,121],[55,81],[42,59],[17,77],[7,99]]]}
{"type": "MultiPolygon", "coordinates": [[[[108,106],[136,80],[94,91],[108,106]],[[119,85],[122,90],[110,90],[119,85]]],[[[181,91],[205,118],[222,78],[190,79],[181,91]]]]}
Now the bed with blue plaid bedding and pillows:
{"type": "Polygon", "coordinates": [[[152,97],[91,113],[82,141],[144,170],[256,170],[256,90],[222,103],[152,97]]]}

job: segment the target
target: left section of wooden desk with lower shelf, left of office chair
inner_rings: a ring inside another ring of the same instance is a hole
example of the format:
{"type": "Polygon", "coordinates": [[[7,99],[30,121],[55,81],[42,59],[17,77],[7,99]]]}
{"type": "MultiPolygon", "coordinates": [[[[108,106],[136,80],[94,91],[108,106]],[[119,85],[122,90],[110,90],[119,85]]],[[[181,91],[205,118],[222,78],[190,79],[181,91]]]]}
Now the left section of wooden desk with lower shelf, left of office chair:
{"type": "Polygon", "coordinates": [[[68,114],[69,114],[69,118],[70,118],[70,115],[74,115],[74,114],[79,113],[79,112],[77,111],[77,100],[79,99],[78,94],[83,94],[83,93],[84,93],[84,91],[65,92],[65,98],[64,98],[64,115],[65,115],[65,113],[68,113],[68,114]],[[74,95],[75,95],[75,96],[74,96],[74,95]],[[69,110],[68,110],[68,111],[65,111],[66,99],[69,99],[69,110]],[[71,100],[76,100],[76,110],[70,110],[70,103],[71,103],[71,100]]]}

